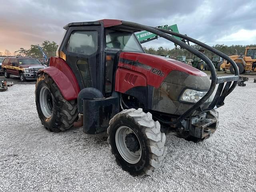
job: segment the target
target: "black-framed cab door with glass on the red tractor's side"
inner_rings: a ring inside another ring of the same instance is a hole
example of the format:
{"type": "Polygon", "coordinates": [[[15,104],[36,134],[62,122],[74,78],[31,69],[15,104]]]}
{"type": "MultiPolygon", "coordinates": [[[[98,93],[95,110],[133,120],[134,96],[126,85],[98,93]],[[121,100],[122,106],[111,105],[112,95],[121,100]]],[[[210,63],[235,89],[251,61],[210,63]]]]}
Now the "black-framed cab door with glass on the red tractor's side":
{"type": "Polygon", "coordinates": [[[60,52],[65,54],[80,89],[93,87],[101,92],[104,82],[103,26],[71,26],[67,29],[60,52]]]}

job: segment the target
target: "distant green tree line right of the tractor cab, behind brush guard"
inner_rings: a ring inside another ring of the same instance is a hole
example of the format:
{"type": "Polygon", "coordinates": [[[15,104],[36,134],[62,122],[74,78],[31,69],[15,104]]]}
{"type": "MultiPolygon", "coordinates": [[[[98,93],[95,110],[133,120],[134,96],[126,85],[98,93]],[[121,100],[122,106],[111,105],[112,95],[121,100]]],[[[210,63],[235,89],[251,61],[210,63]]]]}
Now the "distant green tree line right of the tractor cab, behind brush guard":
{"type": "MultiPolygon", "coordinates": [[[[200,46],[195,45],[193,46],[195,49],[199,50],[202,49],[200,46]]],[[[213,48],[219,50],[220,52],[230,56],[230,55],[244,55],[244,51],[246,47],[256,47],[256,44],[250,44],[250,45],[231,45],[231,46],[227,46],[227,45],[219,45],[216,44],[214,46],[212,46],[213,48]]],[[[170,55],[170,57],[172,58],[176,58],[177,56],[186,56],[186,59],[192,59],[193,54],[190,53],[189,51],[185,50],[185,49],[180,49],[180,48],[173,48],[173,49],[168,49],[168,48],[163,48],[163,47],[159,47],[157,50],[155,48],[145,48],[144,50],[146,51],[146,53],[148,54],[154,54],[154,55],[170,55]]],[[[212,56],[214,56],[214,53],[210,52],[209,50],[204,49],[205,52],[204,54],[208,57],[208,58],[212,58],[212,56]]]]}

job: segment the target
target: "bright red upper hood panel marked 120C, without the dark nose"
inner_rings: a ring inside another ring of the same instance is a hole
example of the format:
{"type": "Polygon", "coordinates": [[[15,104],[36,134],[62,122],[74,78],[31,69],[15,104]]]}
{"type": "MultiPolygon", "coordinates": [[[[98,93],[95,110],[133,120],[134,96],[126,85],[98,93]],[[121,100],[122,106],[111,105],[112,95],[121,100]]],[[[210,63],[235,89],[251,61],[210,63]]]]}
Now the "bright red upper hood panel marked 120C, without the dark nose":
{"type": "Polygon", "coordinates": [[[121,52],[118,66],[144,74],[148,85],[156,88],[160,86],[172,70],[182,71],[194,76],[207,76],[204,72],[183,62],[144,53],[121,52]]]}

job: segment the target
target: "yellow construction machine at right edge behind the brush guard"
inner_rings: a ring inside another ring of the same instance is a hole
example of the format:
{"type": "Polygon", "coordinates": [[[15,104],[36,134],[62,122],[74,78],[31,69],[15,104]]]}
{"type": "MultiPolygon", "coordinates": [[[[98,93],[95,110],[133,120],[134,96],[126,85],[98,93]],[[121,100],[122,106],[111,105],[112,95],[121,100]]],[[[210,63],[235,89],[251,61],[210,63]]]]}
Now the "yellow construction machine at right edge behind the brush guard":
{"type": "MultiPolygon", "coordinates": [[[[256,72],[256,48],[247,47],[245,48],[244,56],[232,55],[230,58],[236,62],[239,74],[245,72],[249,73],[252,71],[256,72]]],[[[226,70],[230,70],[230,72],[234,74],[234,68],[230,66],[230,63],[226,60],[224,60],[220,67],[226,70]]]]}

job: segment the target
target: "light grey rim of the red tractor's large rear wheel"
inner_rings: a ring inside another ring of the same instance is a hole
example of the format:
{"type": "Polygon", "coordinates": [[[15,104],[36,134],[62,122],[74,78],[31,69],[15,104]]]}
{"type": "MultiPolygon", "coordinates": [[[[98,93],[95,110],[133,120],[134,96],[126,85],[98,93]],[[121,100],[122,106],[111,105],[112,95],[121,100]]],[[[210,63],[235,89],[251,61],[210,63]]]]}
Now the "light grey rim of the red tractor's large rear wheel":
{"type": "Polygon", "coordinates": [[[39,101],[42,113],[46,118],[50,118],[52,116],[53,103],[52,94],[47,87],[42,87],[40,90],[39,101]]]}

